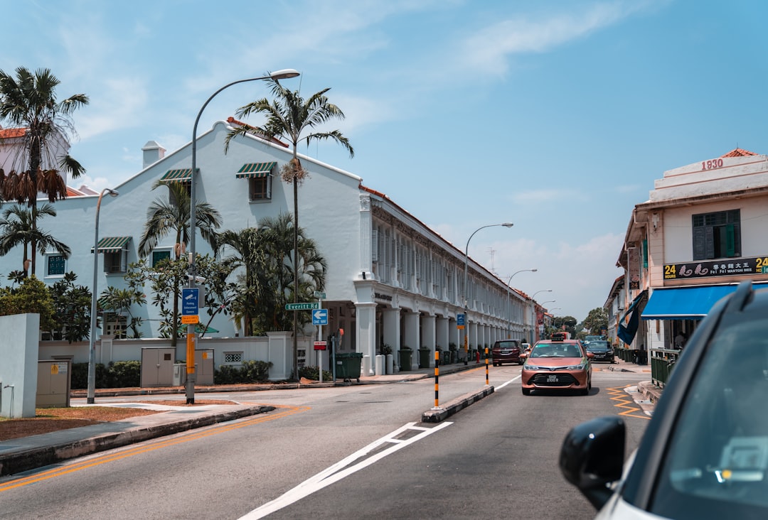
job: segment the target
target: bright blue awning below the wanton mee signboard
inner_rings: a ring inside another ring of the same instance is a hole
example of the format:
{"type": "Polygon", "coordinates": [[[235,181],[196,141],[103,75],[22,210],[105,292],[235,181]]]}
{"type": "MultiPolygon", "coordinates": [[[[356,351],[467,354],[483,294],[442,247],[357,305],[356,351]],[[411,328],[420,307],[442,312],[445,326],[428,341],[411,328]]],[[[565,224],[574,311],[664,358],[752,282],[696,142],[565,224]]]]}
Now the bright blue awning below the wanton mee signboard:
{"type": "MultiPolygon", "coordinates": [[[[723,296],[736,291],[733,285],[703,285],[655,289],[643,309],[644,320],[700,320],[723,296]]],[[[755,288],[766,284],[755,284],[755,288]]]]}

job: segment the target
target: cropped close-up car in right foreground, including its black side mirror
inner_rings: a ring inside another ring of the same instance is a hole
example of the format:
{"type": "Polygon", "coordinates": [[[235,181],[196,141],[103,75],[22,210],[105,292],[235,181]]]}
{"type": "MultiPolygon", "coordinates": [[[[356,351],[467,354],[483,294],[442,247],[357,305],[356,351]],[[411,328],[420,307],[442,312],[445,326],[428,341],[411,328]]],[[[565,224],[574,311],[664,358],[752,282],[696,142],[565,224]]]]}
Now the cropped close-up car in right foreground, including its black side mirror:
{"type": "Polygon", "coordinates": [[[597,518],[768,518],[768,289],[750,281],[690,337],[624,469],[624,420],[571,429],[563,475],[597,518]]]}

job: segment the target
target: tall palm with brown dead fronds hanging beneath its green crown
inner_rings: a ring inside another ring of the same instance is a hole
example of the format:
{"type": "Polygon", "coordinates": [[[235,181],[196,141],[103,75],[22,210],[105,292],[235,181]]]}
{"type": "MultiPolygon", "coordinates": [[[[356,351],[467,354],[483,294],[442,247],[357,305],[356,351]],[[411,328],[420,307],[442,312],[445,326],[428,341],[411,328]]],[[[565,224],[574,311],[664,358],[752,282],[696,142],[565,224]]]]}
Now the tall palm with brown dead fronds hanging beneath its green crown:
{"type": "MultiPolygon", "coordinates": [[[[0,120],[25,128],[23,146],[15,150],[8,172],[0,169],[0,195],[5,200],[26,204],[32,211],[32,230],[37,229],[35,211],[38,193],[48,196],[48,202],[67,196],[65,176],[73,179],[85,172],[71,156],[61,156],[61,138],[74,136],[71,114],[88,104],[85,94],[75,94],[56,100],[56,87],[61,83],[47,68],[32,74],[25,67],[16,69],[16,77],[0,71],[0,120]]],[[[31,239],[31,268],[35,274],[38,250],[36,237],[31,239]]]]}

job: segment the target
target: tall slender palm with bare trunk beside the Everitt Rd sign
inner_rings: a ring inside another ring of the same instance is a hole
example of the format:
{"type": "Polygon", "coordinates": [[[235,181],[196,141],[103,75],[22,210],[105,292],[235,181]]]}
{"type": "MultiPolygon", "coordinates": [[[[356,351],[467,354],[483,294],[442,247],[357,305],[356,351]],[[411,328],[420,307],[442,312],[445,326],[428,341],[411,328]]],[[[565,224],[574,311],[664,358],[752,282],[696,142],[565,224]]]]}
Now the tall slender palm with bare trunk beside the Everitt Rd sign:
{"type": "MultiPolygon", "coordinates": [[[[269,74],[266,74],[269,75],[269,74]]],[[[306,178],[306,170],[301,166],[296,149],[299,141],[303,140],[309,145],[312,141],[335,140],[349,151],[349,156],[354,157],[355,151],[349,140],[339,130],[326,132],[314,132],[315,127],[321,126],[333,119],[344,119],[344,113],[335,104],[329,103],[326,92],[330,88],[312,94],[304,100],[300,91],[290,91],[280,84],[280,81],[272,77],[265,80],[271,85],[274,100],[266,98],[255,100],[237,110],[238,117],[247,117],[250,114],[266,115],[266,123],[263,127],[250,127],[243,125],[230,131],[224,143],[224,152],[229,149],[230,140],[237,135],[257,130],[267,140],[274,138],[290,141],[293,146],[293,159],[286,163],[281,171],[283,181],[293,184],[293,303],[299,298],[299,184],[306,178]],[[309,133],[305,133],[309,132],[309,133]]],[[[298,336],[298,320],[294,312],[293,319],[293,374],[298,374],[296,344],[298,336]]]]}

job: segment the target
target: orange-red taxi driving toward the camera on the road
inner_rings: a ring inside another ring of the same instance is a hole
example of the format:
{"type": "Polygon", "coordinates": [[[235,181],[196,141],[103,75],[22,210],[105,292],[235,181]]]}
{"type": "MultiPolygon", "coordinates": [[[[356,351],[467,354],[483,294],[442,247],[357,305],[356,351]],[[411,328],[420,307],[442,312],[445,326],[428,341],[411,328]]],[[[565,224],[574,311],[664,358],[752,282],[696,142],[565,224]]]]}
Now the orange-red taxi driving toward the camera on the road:
{"type": "Polygon", "coordinates": [[[588,395],[592,388],[594,354],[584,350],[581,341],[553,339],[539,341],[525,358],[521,375],[523,395],[531,390],[578,390],[588,395]]]}

